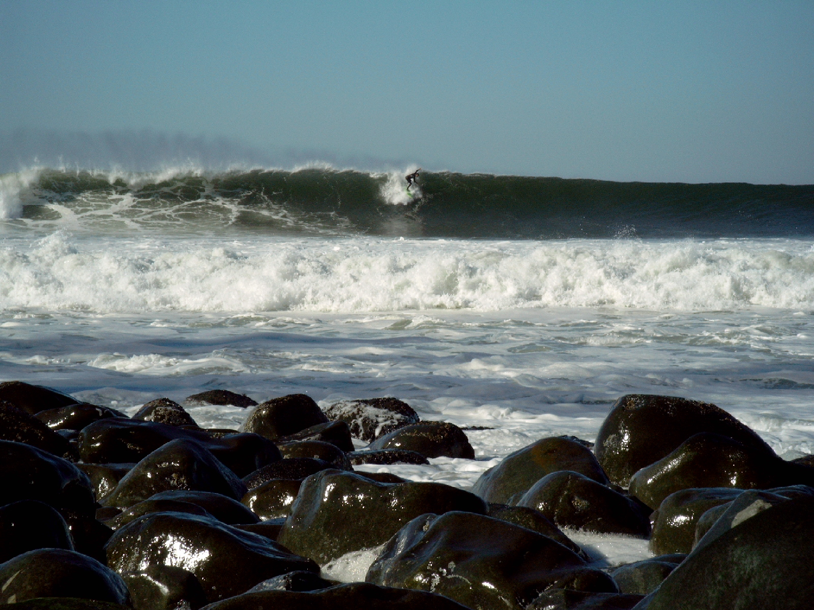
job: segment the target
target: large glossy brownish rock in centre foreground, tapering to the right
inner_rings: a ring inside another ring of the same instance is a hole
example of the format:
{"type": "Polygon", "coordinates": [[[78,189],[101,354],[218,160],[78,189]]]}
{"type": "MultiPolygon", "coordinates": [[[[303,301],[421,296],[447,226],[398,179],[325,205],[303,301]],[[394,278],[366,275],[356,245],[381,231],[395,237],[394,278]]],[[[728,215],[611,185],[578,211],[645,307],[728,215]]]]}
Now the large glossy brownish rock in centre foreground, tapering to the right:
{"type": "Polygon", "coordinates": [[[323,470],[308,477],[279,541],[326,564],[350,551],[377,547],[425,512],[484,514],[484,501],[440,483],[376,483],[354,473],[323,470]]]}

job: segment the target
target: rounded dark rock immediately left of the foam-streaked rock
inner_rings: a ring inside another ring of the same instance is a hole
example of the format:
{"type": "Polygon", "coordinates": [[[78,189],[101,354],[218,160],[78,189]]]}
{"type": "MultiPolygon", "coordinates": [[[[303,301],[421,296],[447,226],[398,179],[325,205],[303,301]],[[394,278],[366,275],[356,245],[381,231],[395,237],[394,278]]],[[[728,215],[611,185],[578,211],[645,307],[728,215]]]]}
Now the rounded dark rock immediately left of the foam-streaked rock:
{"type": "Polygon", "coordinates": [[[313,425],[327,424],[328,418],[317,403],[305,394],[288,394],[260,403],[249,413],[243,429],[276,440],[296,434],[313,425]]]}

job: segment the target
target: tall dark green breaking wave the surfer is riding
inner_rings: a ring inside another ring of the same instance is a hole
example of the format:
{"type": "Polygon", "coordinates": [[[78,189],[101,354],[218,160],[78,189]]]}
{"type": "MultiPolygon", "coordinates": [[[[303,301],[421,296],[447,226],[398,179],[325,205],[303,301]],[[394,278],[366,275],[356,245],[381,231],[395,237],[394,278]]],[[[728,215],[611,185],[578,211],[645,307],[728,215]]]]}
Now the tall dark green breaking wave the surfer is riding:
{"type": "Polygon", "coordinates": [[[280,235],[565,239],[807,237],[814,185],[610,182],[332,168],[0,176],[21,229],[259,231],[280,235]]]}

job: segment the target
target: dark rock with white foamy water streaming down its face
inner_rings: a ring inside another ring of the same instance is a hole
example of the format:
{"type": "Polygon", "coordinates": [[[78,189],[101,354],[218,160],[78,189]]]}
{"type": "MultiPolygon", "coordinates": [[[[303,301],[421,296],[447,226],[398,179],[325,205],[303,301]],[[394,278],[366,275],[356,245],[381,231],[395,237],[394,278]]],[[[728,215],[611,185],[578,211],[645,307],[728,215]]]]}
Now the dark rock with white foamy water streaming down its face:
{"type": "Polygon", "coordinates": [[[343,400],[326,408],[325,415],[331,421],[344,421],[353,438],[367,442],[419,421],[413,407],[390,398],[343,400]]]}

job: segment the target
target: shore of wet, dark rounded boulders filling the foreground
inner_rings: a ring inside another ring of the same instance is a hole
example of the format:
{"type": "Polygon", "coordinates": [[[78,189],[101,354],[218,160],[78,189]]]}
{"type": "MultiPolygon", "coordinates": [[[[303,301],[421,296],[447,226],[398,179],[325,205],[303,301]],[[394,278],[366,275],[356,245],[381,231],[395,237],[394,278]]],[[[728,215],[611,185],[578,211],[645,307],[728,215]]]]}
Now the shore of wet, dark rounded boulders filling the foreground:
{"type": "Polygon", "coordinates": [[[393,398],[210,390],[128,417],[7,381],[0,453],[0,603],[19,608],[814,608],[814,456],[689,399],[622,396],[595,445],[542,438],[471,490],[354,470],[475,459],[393,398]],[[202,404],[250,412],[203,429],[202,404]],[[654,557],[597,567],[575,531],[654,557]],[[348,557],[360,582],[331,580],[348,557]]]}

